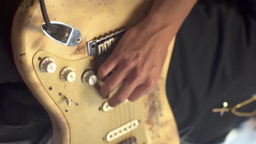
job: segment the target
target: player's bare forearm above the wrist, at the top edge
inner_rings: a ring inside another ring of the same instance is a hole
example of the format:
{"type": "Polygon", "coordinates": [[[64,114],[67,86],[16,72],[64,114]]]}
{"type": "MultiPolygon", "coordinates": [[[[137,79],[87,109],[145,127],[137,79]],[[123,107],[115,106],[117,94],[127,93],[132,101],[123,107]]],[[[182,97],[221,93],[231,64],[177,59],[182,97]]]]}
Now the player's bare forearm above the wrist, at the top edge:
{"type": "Polygon", "coordinates": [[[197,0],[155,0],[142,27],[158,32],[165,28],[173,36],[194,7],[197,0]]]}

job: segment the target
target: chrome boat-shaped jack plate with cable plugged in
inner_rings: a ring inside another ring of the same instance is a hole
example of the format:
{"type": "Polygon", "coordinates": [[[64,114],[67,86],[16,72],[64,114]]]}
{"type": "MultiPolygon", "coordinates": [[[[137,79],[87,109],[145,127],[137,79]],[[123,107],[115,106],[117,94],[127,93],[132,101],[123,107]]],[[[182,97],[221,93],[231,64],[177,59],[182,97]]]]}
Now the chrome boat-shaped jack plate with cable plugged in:
{"type": "Polygon", "coordinates": [[[51,21],[51,24],[57,28],[57,34],[52,34],[47,31],[45,23],[42,24],[41,28],[45,35],[50,39],[66,46],[75,46],[82,41],[81,33],[77,28],[67,25],[66,23],[51,21]]]}

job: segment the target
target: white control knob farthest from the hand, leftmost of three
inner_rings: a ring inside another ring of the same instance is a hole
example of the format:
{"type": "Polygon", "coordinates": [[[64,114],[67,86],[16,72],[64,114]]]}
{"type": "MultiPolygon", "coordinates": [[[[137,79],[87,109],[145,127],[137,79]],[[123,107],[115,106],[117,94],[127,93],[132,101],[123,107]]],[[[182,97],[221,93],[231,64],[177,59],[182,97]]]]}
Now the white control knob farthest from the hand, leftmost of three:
{"type": "Polygon", "coordinates": [[[54,59],[51,57],[44,58],[40,63],[40,70],[43,73],[54,73],[56,68],[57,68],[57,65],[54,62],[54,59]]]}

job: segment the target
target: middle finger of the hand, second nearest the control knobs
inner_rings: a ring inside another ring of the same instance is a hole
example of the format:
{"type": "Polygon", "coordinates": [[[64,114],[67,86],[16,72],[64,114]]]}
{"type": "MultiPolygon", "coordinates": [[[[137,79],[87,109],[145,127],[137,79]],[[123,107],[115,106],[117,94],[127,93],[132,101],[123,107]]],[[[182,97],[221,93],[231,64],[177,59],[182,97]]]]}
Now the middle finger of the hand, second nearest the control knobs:
{"type": "Polygon", "coordinates": [[[108,77],[101,87],[100,95],[103,98],[107,98],[108,94],[125,79],[127,74],[130,72],[130,67],[131,64],[129,63],[121,63],[118,65],[117,69],[114,70],[113,74],[108,77]]]}

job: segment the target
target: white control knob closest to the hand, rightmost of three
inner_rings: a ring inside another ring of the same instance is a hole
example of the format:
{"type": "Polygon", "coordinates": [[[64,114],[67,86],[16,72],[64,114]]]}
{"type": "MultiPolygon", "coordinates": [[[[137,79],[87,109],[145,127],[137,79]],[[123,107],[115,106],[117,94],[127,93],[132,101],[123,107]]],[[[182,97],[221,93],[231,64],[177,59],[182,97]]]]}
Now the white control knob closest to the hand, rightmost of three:
{"type": "Polygon", "coordinates": [[[94,71],[92,70],[87,70],[85,71],[85,73],[83,74],[82,77],[82,81],[85,85],[95,85],[95,83],[97,82],[98,78],[95,75],[94,71]]]}

